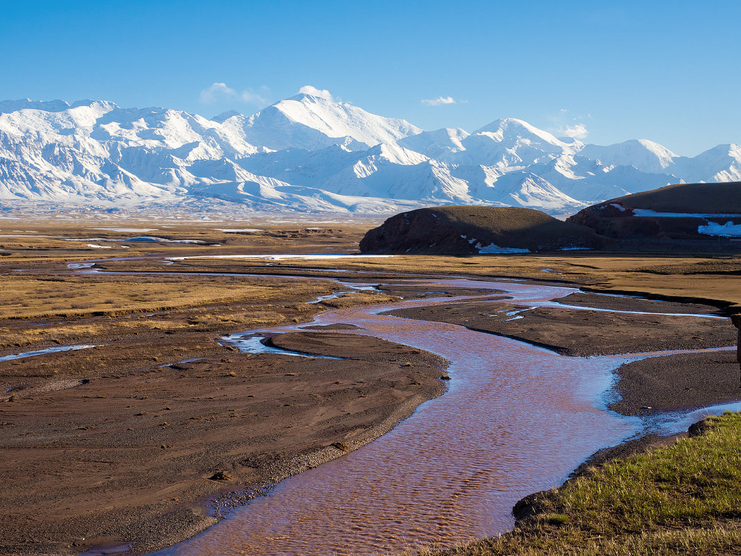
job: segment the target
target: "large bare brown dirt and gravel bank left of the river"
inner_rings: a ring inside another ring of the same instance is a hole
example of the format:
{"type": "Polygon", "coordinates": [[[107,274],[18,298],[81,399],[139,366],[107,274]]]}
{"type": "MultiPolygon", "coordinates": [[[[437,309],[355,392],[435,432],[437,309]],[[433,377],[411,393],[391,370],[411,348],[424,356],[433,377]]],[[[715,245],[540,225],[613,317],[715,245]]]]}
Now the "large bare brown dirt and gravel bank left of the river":
{"type": "Polygon", "coordinates": [[[273,342],[326,355],[349,342],[351,359],[229,354],[10,392],[0,406],[0,554],[168,546],[214,522],[194,500],[237,500],[339,457],[444,391],[446,363],[432,354],[302,336],[273,342]]]}

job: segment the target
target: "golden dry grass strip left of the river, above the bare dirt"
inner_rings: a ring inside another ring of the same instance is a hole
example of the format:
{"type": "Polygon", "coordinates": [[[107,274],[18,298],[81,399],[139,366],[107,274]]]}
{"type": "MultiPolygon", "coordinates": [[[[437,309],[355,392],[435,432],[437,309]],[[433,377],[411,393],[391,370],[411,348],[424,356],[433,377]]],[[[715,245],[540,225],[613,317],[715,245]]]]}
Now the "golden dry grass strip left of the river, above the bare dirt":
{"type": "MultiPolygon", "coordinates": [[[[0,276],[13,297],[0,314],[0,349],[47,347],[102,338],[164,332],[245,331],[310,320],[328,308],[395,301],[396,297],[348,291],[338,299],[308,303],[342,291],[327,280],[282,277],[64,277],[39,279],[0,276]],[[58,288],[50,296],[50,285],[58,288]],[[13,299],[28,299],[18,302],[13,299]],[[84,307],[78,299],[88,299],[84,307]],[[49,319],[51,325],[19,325],[49,319]],[[12,324],[10,324],[12,322],[12,324]]],[[[170,337],[169,342],[174,341],[170,337]]],[[[81,356],[82,357],[82,356],[81,356]]]]}

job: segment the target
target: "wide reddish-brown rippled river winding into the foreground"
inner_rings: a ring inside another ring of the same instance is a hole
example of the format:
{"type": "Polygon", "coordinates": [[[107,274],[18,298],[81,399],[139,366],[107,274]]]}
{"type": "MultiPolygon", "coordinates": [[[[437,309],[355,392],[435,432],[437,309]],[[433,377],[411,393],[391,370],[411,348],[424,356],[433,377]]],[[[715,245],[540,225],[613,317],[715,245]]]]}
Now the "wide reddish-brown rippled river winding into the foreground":
{"type": "MultiPolygon", "coordinates": [[[[423,283],[504,289],[531,306],[575,291],[517,282],[423,283]]],[[[511,529],[517,500],[558,486],[594,451],[657,426],[606,407],[614,369],[649,354],[565,357],[458,325],[379,314],[436,302],[451,299],[345,308],[313,324],[358,325],[363,330],[343,332],[447,358],[452,380],[444,395],[378,440],[289,477],[155,555],[373,555],[454,546],[511,529]]],[[[677,316],[684,317],[692,315],[677,316]]],[[[671,432],[673,423],[686,427],[682,419],[665,416],[659,424],[671,432]]]]}

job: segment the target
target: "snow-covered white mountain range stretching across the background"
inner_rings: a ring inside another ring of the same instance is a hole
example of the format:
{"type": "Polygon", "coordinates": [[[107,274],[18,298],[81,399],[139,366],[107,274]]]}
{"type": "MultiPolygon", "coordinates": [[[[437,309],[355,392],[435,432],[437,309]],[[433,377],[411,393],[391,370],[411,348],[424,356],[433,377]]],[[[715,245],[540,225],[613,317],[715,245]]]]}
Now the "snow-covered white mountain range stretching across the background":
{"type": "Polygon", "coordinates": [[[585,145],[519,119],[424,131],[324,90],[207,119],[106,101],[0,102],[0,204],[386,214],[432,205],[569,214],[677,182],[741,180],[741,145],[694,158],[585,145]]]}

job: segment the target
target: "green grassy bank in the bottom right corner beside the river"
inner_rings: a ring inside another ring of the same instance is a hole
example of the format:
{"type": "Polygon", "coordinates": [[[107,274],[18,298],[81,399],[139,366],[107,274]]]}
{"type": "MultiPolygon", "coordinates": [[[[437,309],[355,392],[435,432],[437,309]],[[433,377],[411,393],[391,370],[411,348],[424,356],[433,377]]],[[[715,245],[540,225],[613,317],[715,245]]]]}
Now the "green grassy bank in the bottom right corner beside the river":
{"type": "Polygon", "coordinates": [[[535,495],[513,532],[428,555],[741,554],[741,413],[535,495]]]}

